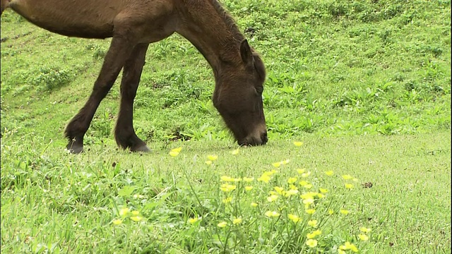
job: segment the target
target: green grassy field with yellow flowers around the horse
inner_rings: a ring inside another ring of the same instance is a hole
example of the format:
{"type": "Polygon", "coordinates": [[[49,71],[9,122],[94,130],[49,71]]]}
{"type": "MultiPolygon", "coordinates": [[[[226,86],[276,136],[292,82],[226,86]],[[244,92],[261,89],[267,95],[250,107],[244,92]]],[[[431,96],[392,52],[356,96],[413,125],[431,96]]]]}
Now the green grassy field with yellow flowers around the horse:
{"type": "Polygon", "coordinates": [[[233,142],[174,35],[134,104],[153,152],[114,143],[116,84],[69,155],[110,40],[3,13],[1,252],[451,253],[451,2],[222,3],[266,63],[263,147],[233,142]]]}

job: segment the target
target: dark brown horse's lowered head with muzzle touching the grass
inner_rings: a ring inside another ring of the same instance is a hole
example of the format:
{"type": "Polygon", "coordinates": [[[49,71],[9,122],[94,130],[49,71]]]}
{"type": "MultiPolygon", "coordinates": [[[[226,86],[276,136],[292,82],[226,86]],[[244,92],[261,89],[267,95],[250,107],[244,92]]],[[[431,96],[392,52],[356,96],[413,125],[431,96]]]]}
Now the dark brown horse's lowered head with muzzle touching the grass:
{"type": "Polygon", "coordinates": [[[213,104],[239,145],[265,145],[268,141],[262,92],[266,70],[246,40],[240,45],[240,66],[226,66],[217,78],[213,104]]]}

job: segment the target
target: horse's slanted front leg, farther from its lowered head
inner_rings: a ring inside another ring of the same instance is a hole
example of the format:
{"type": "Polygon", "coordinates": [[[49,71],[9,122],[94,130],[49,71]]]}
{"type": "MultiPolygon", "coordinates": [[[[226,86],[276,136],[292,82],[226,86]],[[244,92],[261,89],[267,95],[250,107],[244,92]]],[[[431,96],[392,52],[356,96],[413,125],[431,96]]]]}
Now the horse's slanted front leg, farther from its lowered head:
{"type": "Polygon", "coordinates": [[[94,83],[93,92],[85,103],[85,106],[78,111],[78,114],[71,119],[66,126],[66,138],[69,143],[66,148],[72,153],[83,151],[83,136],[90,127],[93,116],[102,99],[105,98],[110,88],[117,79],[119,71],[124,66],[126,59],[129,58],[134,43],[126,36],[113,36],[112,44],[105,55],[104,63],[99,76],[94,83]]]}

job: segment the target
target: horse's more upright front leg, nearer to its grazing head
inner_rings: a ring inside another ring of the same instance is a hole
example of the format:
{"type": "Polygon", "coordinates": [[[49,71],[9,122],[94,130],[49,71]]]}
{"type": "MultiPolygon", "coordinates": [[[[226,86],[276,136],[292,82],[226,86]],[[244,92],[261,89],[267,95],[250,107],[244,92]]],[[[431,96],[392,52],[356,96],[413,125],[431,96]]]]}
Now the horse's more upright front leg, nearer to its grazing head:
{"type": "Polygon", "coordinates": [[[118,121],[114,130],[116,142],[124,149],[130,148],[133,152],[148,152],[149,148],[138,138],[133,130],[133,99],[135,99],[141,71],[145,62],[146,51],[149,44],[138,44],[124,64],[121,80],[121,106],[119,107],[118,121]]]}

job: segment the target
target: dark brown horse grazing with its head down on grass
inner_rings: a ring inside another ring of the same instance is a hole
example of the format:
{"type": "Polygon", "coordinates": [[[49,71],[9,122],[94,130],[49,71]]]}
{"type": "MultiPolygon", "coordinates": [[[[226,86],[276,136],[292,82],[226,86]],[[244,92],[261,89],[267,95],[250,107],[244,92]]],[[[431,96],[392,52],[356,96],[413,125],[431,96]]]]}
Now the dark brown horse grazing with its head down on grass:
{"type": "Polygon", "coordinates": [[[262,92],[266,71],[236,23],[217,0],[0,0],[5,8],[40,28],[69,37],[112,42],[93,91],[66,126],[67,149],[83,151],[83,136],[121,69],[121,104],[114,130],[117,144],[131,151],[149,148],[133,129],[133,99],[152,42],[174,32],[206,58],[215,76],[213,105],[239,145],[267,143],[262,92]]]}

